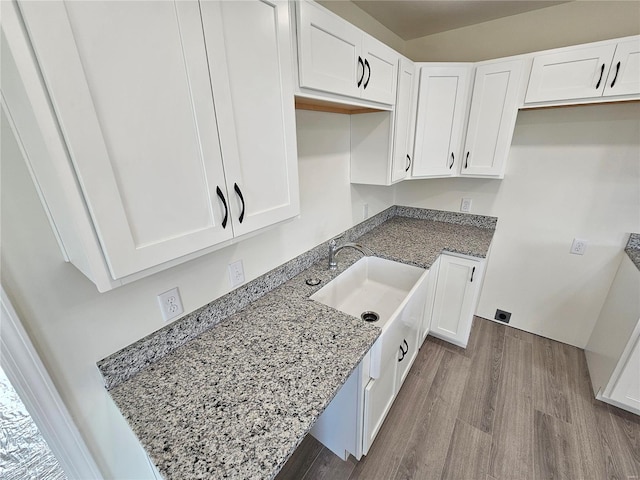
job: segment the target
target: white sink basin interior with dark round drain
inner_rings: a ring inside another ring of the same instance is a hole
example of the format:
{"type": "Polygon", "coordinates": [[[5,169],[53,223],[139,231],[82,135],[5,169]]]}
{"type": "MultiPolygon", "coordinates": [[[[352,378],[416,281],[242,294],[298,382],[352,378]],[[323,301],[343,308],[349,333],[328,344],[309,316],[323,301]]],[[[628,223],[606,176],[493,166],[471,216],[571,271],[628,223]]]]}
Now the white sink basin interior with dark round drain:
{"type": "Polygon", "coordinates": [[[380,318],[374,324],[382,328],[423,273],[420,267],[363,257],[310,298],[358,318],[376,312],[380,318]]]}

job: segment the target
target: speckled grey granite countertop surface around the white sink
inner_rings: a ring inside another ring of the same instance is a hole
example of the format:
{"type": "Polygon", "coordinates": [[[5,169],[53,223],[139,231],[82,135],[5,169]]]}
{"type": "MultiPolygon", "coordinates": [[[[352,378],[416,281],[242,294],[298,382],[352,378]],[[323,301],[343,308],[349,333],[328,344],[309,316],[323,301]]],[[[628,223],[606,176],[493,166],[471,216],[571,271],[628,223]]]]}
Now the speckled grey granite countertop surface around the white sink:
{"type": "MultiPolygon", "coordinates": [[[[423,268],[443,250],[485,257],[494,233],[393,214],[357,241],[423,268]]],[[[277,474],[380,334],[308,299],[360,256],[316,262],[110,390],[165,479],[277,474]]]]}

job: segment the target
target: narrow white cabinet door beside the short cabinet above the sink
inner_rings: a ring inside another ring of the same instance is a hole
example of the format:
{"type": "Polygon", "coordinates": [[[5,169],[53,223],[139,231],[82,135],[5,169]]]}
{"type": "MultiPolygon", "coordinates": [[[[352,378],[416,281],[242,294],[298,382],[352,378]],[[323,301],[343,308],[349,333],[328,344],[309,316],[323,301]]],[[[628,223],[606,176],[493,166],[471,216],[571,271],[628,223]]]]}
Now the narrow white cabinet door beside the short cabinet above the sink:
{"type": "Polygon", "coordinates": [[[411,168],[411,144],[409,143],[411,128],[411,100],[413,96],[414,64],[402,59],[398,69],[398,92],[394,111],[394,143],[391,166],[391,183],[405,178],[411,168]]]}

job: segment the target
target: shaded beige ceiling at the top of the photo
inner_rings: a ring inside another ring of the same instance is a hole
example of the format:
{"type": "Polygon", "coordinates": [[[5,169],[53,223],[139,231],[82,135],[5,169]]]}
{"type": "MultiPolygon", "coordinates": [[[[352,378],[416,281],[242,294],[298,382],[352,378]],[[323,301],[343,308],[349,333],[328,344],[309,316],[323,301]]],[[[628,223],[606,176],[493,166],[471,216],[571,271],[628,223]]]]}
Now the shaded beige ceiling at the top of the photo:
{"type": "Polygon", "coordinates": [[[551,7],[554,0],[352,0],[403,40],[551,7]]]}

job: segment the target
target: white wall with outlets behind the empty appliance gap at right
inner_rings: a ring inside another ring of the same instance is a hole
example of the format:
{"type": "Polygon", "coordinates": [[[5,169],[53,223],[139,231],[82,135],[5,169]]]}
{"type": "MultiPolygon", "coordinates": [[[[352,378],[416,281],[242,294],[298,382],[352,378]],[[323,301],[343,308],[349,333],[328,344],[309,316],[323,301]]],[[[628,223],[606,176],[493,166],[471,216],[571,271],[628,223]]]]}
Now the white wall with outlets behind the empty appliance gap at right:
{"type": "Polygon", "coordinates": [[[477,313],[584,347],[640,231],[640,105],[521,111],[504,180],[400,183],[396,203],[498,217],[477,313]],[[569,254],[574,237],[584,256],[569,254]]]}

